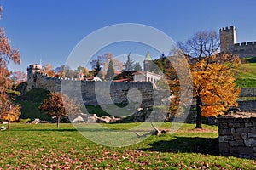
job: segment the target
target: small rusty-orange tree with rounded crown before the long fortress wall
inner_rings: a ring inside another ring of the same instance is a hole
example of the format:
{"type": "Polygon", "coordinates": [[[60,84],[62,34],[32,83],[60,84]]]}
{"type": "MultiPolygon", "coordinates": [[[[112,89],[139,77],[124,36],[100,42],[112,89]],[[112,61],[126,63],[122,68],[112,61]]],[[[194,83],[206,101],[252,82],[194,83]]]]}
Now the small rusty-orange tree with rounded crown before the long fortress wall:
{"type": "Polygon", "coordinates": [[[49,116],[57,118],[57,127],[60,127],[61,116],[76,116],[81,113],[79,105],[66,94],[51,92],[49,98],[39,106],[40,111],[46,111],[49,116]]]}

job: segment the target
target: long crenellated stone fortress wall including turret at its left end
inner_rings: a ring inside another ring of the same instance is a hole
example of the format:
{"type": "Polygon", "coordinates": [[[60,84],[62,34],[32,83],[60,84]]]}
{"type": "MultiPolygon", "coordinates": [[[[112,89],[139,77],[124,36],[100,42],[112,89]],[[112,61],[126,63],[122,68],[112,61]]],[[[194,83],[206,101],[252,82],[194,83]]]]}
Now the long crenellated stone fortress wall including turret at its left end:
{"type": "Polygon", "coordinates": [[[99,101],[108,104],[127,104],[129,94],[133,100],[140,100],[140,107],[154,105],[154,89],[151,82],[94,82],[73,78],[49,77],[42,72],[41,65],[29,65],[27,68],[27,87],[43,88],[53,92],[62,92],[70,97],[80,97],[84,105],[99,105],[99,101]],[[137,97],[134,97],[137,96],[137,97]],[[109,99],[111,98],[111,99],[109,99]]]}

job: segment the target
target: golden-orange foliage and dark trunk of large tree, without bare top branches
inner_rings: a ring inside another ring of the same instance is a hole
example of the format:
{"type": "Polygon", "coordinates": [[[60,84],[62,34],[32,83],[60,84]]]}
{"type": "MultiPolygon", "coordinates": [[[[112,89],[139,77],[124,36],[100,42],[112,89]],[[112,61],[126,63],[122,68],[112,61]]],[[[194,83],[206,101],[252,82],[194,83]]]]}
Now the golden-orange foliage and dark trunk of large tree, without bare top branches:
{"type": "Polygon", "coordinates": [[[191,65],[196,128],[201,128],[201,116],[223,115],[230,106],[236,106],[240,88],[236,88],[232,68],[239,63],[240,59],[232,54],[215,54],[191,65]],[[211,64],[208,59],[212,60],[211,64]]]}

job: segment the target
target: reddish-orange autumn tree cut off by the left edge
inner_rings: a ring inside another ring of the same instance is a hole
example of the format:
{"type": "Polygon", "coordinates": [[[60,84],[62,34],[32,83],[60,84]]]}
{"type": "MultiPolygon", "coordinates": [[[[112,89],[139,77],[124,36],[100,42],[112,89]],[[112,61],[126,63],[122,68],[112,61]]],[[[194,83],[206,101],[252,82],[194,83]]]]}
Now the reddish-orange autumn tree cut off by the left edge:
{"type": "MultiPolygon", "coordinates": [[[[3,8],[0,6],[0,18],[3,8]]],[[[20,105],[13,105],[13,99],[8,95],[13,86],[8,70],[9,62],[20,64],[20,53],[17,48],[10,46],[9,38],[5,36],[3,27],[0,27],[0,119],[16,121],[20,115],[20,105]]]]}

